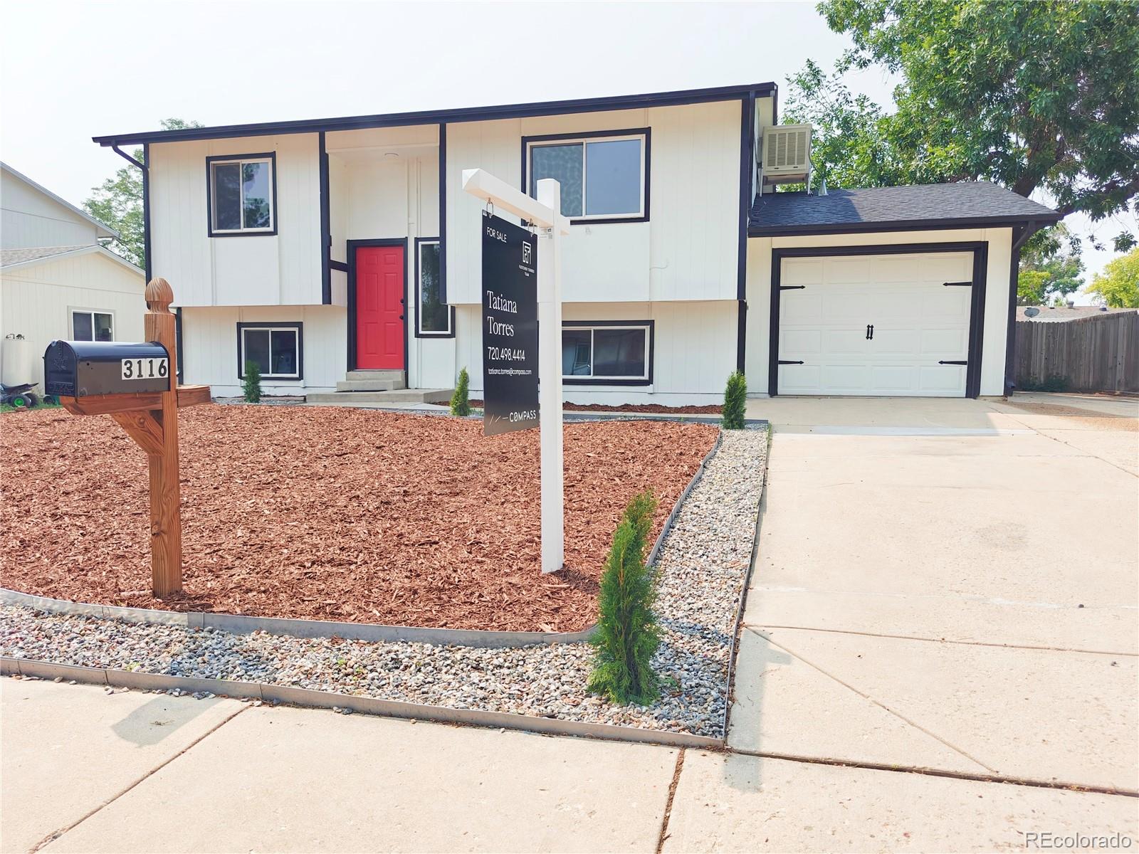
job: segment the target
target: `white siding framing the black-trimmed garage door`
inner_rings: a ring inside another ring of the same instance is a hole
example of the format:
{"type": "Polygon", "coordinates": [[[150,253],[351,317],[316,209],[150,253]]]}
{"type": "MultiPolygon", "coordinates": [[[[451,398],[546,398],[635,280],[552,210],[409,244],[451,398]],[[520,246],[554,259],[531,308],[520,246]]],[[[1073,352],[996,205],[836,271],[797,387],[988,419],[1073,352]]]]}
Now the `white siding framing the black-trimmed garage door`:
{"type": "Polygon", "coordinates": [[[868,235],[752,238],[747,246],[746,373],[752,394],[768,392],[768,348],[771,318],[771,249],[828,246],[885,246],[928,243],[989,243],[985,282],[984,336],[981,348],[981,394],[1005,393],[1005,350],[1008,334],[1011,229],[904,231],[868,235]]]}

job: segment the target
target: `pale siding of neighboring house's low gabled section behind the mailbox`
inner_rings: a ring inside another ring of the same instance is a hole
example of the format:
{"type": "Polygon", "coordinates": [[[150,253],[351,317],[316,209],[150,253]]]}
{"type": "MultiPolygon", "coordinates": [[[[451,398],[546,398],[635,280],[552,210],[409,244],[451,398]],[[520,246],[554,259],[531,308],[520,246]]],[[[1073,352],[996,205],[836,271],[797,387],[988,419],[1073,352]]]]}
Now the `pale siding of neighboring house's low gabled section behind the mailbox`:
{"type": "Polygon", "coordinates": [[[44,348],[72,337],[71,309],[109,312],[115,340],[142,340],[144,287],[140,273],[99,252],[0,273],[0,339],[17,332],[28,339],[26,381],[42,383],[44,348]]]}

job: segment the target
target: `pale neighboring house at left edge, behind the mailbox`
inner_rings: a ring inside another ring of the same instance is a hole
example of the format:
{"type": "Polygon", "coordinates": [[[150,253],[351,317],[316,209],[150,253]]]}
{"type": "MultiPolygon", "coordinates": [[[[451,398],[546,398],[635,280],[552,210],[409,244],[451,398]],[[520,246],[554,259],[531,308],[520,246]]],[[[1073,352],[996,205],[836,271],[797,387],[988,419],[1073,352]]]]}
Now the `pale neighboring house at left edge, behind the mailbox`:
{"type": "Polygon", "coordinates": [[[0,370],[5,358],[21,359],[23,381],[42,383],[43,351],[56,338],[142,339],[142,271],[98,244],[115,231],[2,163],[0,207],[0,339],[27,342],[23,358],[5,345],[0,370]]]}

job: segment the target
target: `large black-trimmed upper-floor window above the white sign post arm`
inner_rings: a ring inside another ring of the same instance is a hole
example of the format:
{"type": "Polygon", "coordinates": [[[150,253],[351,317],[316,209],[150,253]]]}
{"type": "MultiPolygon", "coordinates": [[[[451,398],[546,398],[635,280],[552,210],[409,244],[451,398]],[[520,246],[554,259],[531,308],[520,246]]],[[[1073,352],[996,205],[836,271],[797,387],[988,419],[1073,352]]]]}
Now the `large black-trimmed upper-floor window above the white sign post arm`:
{"type": "Polygon", "coordinates": [[[579,222],[648,219],[648,130],[567,138],[526,137],[530,195],[562,184],[562,213],[579,222]]]}

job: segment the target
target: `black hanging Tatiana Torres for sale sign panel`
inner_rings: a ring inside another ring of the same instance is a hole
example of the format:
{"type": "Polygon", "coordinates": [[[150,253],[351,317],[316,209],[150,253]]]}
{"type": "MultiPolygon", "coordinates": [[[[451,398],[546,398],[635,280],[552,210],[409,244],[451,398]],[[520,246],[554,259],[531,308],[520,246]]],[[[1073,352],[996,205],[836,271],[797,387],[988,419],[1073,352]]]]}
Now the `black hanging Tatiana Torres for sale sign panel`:
{"type": "Polygon", "coordinates": [[[483,215],[483,434],[538,426],[538,238],[483,215]]]}

